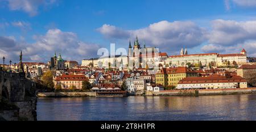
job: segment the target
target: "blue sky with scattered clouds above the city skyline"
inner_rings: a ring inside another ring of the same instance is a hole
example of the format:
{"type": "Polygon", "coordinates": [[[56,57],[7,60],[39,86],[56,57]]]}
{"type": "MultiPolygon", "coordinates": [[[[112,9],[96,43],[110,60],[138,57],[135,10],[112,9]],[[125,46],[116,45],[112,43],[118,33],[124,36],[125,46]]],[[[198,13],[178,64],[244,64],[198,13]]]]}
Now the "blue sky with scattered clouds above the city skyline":
{"type": "MultiPolygon", "coordinates": [[[[240,53],[256,57],[256,0],[0,0],[0,57],[47,62],[98,57],[100,48],[139,42],[169,56],[240,53]]],[[[2,63],[2,60],[1,60],[2,63]]]]}

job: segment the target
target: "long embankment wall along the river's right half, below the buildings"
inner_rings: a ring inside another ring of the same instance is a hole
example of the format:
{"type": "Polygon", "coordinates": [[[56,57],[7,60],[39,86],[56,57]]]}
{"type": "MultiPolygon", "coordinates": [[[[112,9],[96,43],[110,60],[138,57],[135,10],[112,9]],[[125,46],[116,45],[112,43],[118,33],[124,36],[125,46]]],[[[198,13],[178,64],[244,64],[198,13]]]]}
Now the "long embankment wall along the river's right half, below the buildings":
{"type": "Polygon", "coordinates": [[[220,90],[164,90],[147,92],[147,96],[203,96],[203,95],[242,95],[256,93],[256,88],[232,88],[220,90]]]}

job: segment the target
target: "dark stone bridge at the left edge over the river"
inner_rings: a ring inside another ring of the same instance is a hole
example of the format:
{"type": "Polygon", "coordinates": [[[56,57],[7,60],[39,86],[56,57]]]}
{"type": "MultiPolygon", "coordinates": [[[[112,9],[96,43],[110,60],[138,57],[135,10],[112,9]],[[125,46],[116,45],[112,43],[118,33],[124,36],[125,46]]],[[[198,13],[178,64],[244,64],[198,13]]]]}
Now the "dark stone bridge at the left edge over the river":
{"type": "Polygon", "coordinates": [[[0,69],[0,118],[36,120],[36,86],[24,73],[0,69]]]}

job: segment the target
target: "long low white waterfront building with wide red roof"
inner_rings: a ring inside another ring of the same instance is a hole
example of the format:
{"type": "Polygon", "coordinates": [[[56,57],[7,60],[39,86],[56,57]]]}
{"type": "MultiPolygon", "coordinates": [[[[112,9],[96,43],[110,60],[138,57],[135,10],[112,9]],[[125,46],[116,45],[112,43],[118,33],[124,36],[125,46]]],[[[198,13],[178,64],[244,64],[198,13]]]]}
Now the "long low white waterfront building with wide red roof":
{"type": "Polygon", "coordinates": [[[176,88],[178,90],[247,88],[247,82],[241,76],[212,75],[207,77],[188,77],[180,80],[176,88]]]}

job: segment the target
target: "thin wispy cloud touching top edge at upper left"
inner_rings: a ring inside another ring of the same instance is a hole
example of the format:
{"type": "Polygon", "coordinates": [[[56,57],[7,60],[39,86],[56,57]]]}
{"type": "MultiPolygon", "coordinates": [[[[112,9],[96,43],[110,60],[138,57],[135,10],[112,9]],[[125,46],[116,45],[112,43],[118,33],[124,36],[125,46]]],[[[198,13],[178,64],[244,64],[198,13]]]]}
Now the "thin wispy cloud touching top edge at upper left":
{"type": "Polygon", "coordinates": [[[10,10],[22,10],[35,16],[38,14],[39,6],[49,6],[56,2],[56,0],[5,0],[8,2],[10,10]]]}

